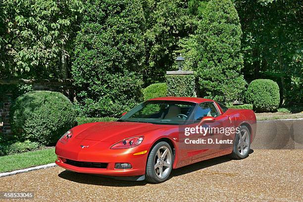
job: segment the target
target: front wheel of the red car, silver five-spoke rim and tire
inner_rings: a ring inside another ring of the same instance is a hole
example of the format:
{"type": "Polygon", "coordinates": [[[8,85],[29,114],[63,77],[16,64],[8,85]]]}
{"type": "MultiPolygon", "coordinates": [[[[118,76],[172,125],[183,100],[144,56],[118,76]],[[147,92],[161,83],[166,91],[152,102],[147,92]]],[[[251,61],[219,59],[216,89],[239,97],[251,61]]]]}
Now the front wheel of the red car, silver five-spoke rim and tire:
{"type": "Polygon", "coordinates": [[[157,143],[151,150],[146,166],[146,180],[161,183],[167,180],[172,170],[173,152],[166,142],[157,143]]]}

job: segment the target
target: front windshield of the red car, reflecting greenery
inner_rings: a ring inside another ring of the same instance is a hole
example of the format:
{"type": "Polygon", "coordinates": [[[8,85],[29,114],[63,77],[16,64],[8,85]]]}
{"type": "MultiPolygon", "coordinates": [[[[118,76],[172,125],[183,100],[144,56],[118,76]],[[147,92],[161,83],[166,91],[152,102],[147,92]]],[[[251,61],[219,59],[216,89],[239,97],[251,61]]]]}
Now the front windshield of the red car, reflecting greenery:
{"type": "Polygon", "coordinates": [[[146,101],[118,121],[179,125],[191,116],[196,103],[187,101],[146,101]]]}

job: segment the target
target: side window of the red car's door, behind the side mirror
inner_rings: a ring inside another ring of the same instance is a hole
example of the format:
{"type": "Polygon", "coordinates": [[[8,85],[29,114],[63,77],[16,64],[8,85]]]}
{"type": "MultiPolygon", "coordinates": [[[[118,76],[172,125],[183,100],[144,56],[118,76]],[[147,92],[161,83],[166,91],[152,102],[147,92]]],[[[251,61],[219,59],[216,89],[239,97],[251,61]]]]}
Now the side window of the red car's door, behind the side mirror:
{"type": "Polygon", "coordinates": [[[199,104],[194,119],[201,120],[204,116],[212,116],[217,117],[219,116],[219,112],[217,111],[216,107],[214,106],[213,102],[203,102],[199,104]]]}

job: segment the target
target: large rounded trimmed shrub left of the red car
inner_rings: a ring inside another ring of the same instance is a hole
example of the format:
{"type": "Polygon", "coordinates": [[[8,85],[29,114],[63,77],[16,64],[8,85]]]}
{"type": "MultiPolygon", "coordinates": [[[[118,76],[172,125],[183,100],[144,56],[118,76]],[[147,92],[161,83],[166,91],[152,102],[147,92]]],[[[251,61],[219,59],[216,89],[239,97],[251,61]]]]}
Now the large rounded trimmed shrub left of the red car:
{"type": "Polygon", "coordinates": [[[54,145],[75,123],[72,103],[61,93],[33,91],[11,106],[10,121],[17,140],[54,145]]]}

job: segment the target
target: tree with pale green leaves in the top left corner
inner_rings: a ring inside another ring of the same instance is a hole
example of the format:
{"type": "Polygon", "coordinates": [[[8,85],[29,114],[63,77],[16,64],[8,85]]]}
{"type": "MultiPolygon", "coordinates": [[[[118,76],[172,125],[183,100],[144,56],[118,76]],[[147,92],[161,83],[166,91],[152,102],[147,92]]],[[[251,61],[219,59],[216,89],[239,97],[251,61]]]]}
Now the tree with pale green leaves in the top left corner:
{"type": "MultiPolygon", "coordinates": [[[[82,11],[79,0],[3,0],[0,75],[54,77],[82,11]]],[[[2,25],[2,23],[1,23],[2,25]]]]}

